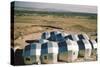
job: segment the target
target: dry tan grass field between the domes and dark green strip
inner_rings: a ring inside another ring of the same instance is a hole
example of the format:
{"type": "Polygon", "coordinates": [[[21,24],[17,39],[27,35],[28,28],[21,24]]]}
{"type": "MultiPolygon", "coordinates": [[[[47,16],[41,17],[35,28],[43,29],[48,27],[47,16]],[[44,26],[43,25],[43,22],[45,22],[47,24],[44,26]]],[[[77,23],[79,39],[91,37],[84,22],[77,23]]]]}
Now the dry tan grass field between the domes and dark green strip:
{"type": "MultiPolygon", "coordinates": [[[[15,16],[14,24],[14,39],[17,43],[22,40],[22,36],[28,38],[38,38],[43,31],[49,30],[63,30],[65,32],[84,32],[90,38],[95,39],[96,36],[91,36],[91,32],[97,32],[96,19],[76,18],[76,17],[57,17],[52,15],[47,16],[15,16]],[[30,34],[33,37],[30,37],[30,34]],[[29,36],[28,36],[29,35],[29,36]],[[19,40],[20,39],[20,40],[19,40]]],[[[20,43],[22,45],[22,43],[20,43]]],[[[15,45],[15,44],[14,44],[15,45]]]]}

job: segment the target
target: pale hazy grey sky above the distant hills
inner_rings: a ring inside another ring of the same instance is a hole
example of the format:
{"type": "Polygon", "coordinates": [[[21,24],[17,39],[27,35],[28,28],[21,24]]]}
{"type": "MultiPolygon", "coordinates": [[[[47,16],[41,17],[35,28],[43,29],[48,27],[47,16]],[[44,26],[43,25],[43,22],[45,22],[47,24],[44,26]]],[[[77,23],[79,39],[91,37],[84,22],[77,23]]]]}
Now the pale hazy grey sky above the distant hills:
{"type": "Polygon", "coordinates": [[[73,11],[73,12],[86,12],[86,13],[97,13],[96,6],[88,5],[71,5],[71,4],[54,4],[54,3],[39,3],[39,2],[15,2],[15,6],[19,7],[30,7],[30,8],[43,8],[43,9],[57,9],[62,11],[73,11]]]}

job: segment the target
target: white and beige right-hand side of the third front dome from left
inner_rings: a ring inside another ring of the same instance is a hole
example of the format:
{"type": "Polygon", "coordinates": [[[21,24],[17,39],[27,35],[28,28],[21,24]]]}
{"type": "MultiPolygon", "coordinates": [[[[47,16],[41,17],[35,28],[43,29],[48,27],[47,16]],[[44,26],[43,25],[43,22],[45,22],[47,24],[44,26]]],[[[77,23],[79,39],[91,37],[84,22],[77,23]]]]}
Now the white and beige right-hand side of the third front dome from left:
{"type": "Polygon", "coordinates": [[[79,47],[76,41],[67,40],[68,46],[68,61],[74,61],[78,58],[79,47]]]}

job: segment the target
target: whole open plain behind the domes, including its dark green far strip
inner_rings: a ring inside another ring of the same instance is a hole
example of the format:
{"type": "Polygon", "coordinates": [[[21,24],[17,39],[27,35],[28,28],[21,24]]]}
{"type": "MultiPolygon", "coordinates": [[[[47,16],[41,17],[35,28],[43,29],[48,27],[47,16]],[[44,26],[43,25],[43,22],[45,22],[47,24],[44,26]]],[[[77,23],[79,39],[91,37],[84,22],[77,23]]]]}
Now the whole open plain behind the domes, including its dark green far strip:
{"type": "MultiPolygon", "coordinates": [[[[96,36],[91,36],[91,32],[97,32],[96,14],[15,11],[14,21],[15,41],[20,41],[21,39],[19,40],[18,38],[25,35],[34,35],[34,33],[38,34],[54,29],[63,30],[65,32],[85,32],[90,38],[96,38],[96,36]]],[[[38,35],[35,36],[39,37],[38,35]]],[[[32,38],[34,39],[34,36],[32,38]]],[[[16,45],[16,43],[14,45],[16,45]]]]}

